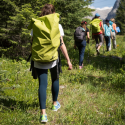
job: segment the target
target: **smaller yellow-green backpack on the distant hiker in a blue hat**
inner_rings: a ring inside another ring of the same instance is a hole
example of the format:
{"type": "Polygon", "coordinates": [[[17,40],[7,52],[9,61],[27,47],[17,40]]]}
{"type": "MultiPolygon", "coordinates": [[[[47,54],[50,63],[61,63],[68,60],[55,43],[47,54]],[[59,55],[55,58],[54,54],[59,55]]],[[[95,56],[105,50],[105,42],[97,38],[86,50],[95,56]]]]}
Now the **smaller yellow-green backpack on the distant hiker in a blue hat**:
{"type": "Polygon", "coordinates": [[[101,19],[96,18],[90,22],[92,33],[99,33],[101,31],[101,28],[99,25],[101,21],[102,21],[101,19]]]}

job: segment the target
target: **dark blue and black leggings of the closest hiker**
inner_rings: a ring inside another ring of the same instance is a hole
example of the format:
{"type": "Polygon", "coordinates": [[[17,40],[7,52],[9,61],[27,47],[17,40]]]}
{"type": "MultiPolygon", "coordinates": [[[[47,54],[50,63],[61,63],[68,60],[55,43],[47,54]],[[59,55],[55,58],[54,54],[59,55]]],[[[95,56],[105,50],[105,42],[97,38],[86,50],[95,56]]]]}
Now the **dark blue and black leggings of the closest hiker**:
{"type": "MultiPolygon", "coordinates": [[[[58,78],[58,67],[55,66],[50,69],[51,79],[52,79],[52,98],[53,101],[57,101],[59,93],[59,78],[58,78]]],[[[36,68],[38,79],[39,79],[39,103],[40,109],[46,108],[46,89],[47,89],[47,75],[48,69],[38,69],[36,68]]]]}

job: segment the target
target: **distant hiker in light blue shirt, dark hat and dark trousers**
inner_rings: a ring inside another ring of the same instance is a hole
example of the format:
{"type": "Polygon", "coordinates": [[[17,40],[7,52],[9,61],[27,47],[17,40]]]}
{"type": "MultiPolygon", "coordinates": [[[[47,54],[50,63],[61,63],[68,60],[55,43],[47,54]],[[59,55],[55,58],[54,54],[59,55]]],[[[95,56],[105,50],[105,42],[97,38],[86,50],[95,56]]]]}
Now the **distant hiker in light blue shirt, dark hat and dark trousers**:
{"type": "Polygon", "coordinates": [[[111,38],[112,38],[111,30],[113,30],[113,27],[109,24],[108,19],[105,20],[105,24],[103,27],[104,27],[104,37],[105,37],[105,41],[106,41],[106,48],[107,48],[107,51],[109,51],[111,38]]]}

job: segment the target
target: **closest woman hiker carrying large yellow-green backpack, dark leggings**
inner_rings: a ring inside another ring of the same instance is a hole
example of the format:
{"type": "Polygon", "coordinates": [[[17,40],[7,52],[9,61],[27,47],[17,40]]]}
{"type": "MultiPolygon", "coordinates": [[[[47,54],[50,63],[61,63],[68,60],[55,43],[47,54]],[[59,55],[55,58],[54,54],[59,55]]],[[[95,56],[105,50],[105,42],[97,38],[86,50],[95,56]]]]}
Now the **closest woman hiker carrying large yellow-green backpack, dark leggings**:
{"type": "Polygon", "coordinates": [[[63,41],[63,28],[59,24],[58,13],[52,4],[46,4],[38,19],[32,18],[28,29],[32,29],[32,60],[39,79],[39,103],[40,103],[40,121],[47,122],[46,114],[46,89],[48,69],[51,72],[52,79],[52,110],[57,111],[61,105],[57,101],[59,92],[59,59],[58,48],[65,56],[69,70],[72,69],[66,46],[63,41]],[[61,39],[61,43],[60,43],[61,39]]]}

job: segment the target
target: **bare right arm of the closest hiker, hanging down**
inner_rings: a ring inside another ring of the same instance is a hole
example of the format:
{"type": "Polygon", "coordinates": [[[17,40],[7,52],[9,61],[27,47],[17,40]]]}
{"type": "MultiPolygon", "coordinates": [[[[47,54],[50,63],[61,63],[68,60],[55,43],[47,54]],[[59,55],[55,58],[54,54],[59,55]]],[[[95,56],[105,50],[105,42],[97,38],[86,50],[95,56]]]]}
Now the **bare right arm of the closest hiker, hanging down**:
{"type": "Polygon", "coordinates": [[[72,64],[71,64],[71,62],[70,62],[70,59],[69,59],[69,55],[68,55],[68,52],[67,52],[67,49],[66,49],[66,46],[65,46],[65,44],[64,44],[64,41],[63,41],[63,37],[61,36],[61,46],[60,46],[60,49],[61,49],[61,51],[62,51],[62,53],[63,53],[63,55],[64,55],[64,57],[66,58],[66,60],[67,60],[67,63],[68,63],[68,66],[69,66],[69,70],[71,70],[72,69],[72,64]]]}

